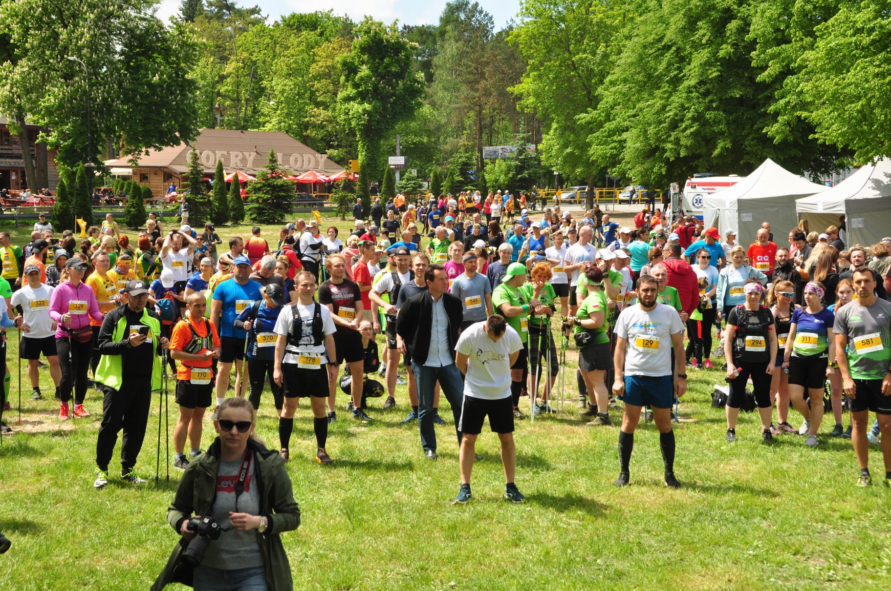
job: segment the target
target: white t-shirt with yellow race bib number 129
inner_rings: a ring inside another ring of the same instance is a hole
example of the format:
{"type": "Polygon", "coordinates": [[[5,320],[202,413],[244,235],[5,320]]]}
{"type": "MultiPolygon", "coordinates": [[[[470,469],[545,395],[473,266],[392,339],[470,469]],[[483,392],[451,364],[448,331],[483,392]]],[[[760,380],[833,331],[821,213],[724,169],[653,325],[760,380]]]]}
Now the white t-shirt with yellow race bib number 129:
{"type": "Polygon", "coordinates": [[[625,308],[615,332],[627,339],[625,376],[670,376],[671,336],[683,331],[681,316],[673,307],[656,304],[650,312],[640,305],[625,308]]]}

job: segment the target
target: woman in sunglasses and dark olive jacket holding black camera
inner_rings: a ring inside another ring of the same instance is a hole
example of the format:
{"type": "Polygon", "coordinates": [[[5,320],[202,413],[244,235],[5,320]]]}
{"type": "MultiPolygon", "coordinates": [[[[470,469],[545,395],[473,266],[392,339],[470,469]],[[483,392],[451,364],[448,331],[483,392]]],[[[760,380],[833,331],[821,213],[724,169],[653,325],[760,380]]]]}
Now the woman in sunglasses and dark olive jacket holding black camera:
{"type": "Polygon", "coordinates": [[[300,524],[290,477],[279,454],[254,434],[248,399],[225,399],[218,417],[219,436],[186,466],[168,509],[168,522],[182,538],[151,588],[191,583],[195,591],[290,589],[290,563],[279,537],[300,524]]]}

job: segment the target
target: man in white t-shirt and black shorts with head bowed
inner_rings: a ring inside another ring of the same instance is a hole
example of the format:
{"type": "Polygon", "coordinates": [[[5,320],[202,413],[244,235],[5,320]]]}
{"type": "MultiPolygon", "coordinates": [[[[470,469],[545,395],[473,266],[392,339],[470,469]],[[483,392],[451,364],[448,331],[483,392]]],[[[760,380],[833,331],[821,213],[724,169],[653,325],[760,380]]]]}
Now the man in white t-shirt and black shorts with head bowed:
{"type": "Polygon", "coordinates": [[[458,428],[462,433],[460,464],[461,488],[453,504],[470,500],[470,472],[475,445],[483,430],[483,420],[501,440],[504,465],[504,498],[522,503],[524,497],[514,483],[517,448],[513,441],[513,400],[511,365],[519,357],[523,343],[516,330],[501,315],[489,316],[462,332],[455,345],[455,364],[464,374],[464,399],[458,428]]]}

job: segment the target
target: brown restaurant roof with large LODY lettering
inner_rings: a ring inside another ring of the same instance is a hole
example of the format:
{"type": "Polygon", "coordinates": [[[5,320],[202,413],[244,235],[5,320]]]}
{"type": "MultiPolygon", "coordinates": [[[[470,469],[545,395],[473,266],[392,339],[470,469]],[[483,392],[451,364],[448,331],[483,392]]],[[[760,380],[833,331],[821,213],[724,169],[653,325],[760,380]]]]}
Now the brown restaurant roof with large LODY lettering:
{"type": "MultiPolygon", "coordinates": [[[[217,160],[222,159],[227,173],[235,170],[256,175],[266,165],[269,150],[275,150],[282,169],[293,174],[303,174],[308,170],[333,175],[343,171],[328,158],[319,154],[305,143],[298,142],[282,132],[249,132],[238,129],[200,129],[198,139],[192,146],[201,157],[204,172],[213,174],[217,160]]],[[[150,150],[147,155],[137,158],[137,167],[164,167],[183,174],[189,167],[189,151],[185,143],[160,150],[150,150]]],[[[106,163],[107,166],[132,166],[130,157],[119,158],[106,163]]]]}

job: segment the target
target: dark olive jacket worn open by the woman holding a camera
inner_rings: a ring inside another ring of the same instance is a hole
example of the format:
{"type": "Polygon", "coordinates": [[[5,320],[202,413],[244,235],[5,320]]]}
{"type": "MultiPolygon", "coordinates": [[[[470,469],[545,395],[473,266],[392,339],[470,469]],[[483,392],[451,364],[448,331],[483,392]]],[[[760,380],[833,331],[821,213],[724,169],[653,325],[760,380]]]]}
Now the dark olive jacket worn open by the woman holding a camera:
{"type": "MultiPolygon", "coordinates": [[[[257,545],[266,566],[266,584],[271,591],[292,589],[290,563],[279,535],[282,531],[296,530],[300,525],[300,509],[294,500],[290,476],[278,452],[253,440],[248,440],[248,447],[254,451],[254,461],[257,462],[255,474],[260,487],[260,514],[266,515],[267,521],[266,531],[257,531],[257,545]]],[[[168,509],[168,522],[177,535],[184,519],[210,513],[217,486],[219,454],[220,440],[217,437],[206,454],[186,466],[183,479],[176,488],[176,497],[168,509]]],[[[151,586],[152,591],[160,591],[170,583],[192,587],[192,567],[180,560],[186,546],[185,538],[176,542],[167,566],[151,586]]],[[[233,568],[237,565],[233,564],[233,568]]]]}

